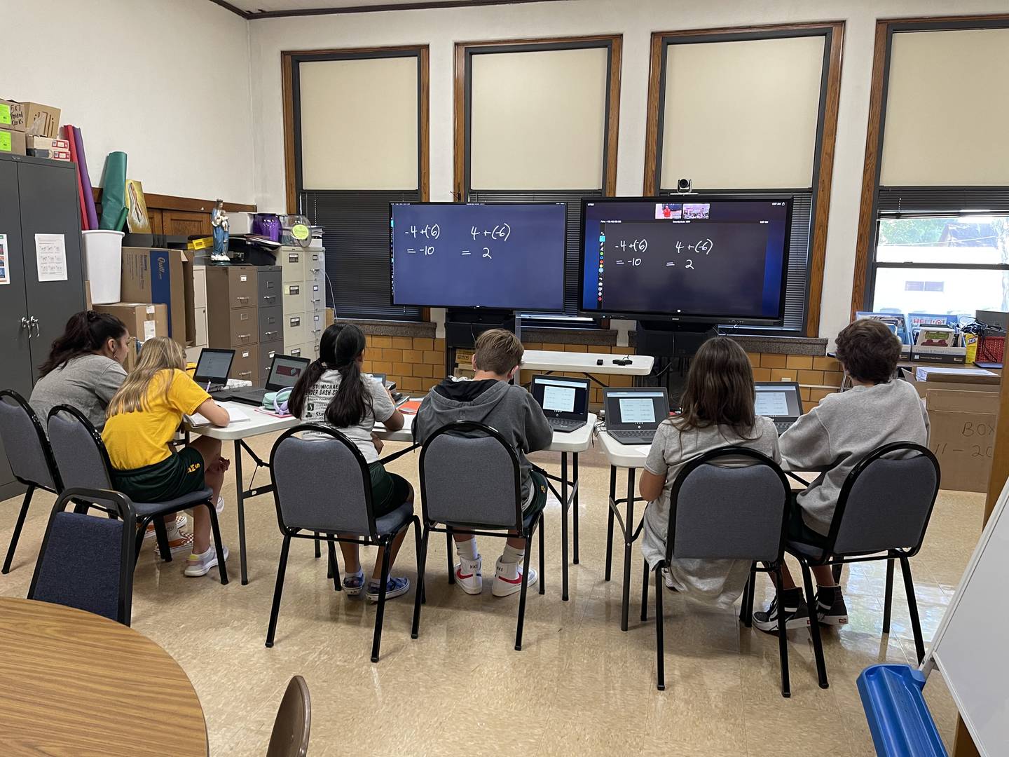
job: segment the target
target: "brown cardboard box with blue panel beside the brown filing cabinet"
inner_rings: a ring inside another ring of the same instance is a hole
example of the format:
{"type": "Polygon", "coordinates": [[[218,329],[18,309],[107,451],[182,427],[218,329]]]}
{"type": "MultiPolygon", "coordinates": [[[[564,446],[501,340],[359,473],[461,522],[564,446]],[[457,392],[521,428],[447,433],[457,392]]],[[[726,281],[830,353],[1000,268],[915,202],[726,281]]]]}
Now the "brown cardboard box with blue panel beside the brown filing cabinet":
{"type": "Polygon", "coordinates": [[[162,303],[169,336],[184,347],[195,343],[192,251],[123,247],[121,296],[130,302],[162,303]]]}

